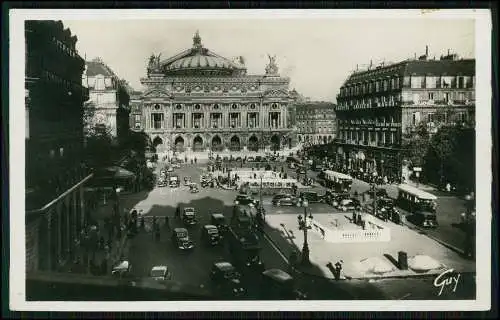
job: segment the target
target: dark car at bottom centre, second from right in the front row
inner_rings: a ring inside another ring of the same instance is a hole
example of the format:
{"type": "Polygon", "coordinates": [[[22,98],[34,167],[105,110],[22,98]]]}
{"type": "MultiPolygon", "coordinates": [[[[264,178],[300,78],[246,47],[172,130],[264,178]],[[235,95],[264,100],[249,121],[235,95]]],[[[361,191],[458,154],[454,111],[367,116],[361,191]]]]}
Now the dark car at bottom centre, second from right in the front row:
{"type": "Polygon", "coordinates": [[[245,295],[246,290],[241,283],[241,275],[229,262],[216,262],[210,272],[215,287],[224,297],[239,298],[245,295]]]}

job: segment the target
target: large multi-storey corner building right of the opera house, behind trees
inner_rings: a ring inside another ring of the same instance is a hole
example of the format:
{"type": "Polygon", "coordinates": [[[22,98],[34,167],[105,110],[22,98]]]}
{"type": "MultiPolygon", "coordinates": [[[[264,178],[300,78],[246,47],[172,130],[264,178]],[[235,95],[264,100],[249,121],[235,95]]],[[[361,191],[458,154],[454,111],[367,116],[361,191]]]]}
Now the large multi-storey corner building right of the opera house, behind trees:
{"type": "Polygon", "coordinates": [[[424,125],[473,122],[475,60],[455,54],[354,72],[337,96],[336,162],[350,170],[407,178],[406,139],[424,125]]]}

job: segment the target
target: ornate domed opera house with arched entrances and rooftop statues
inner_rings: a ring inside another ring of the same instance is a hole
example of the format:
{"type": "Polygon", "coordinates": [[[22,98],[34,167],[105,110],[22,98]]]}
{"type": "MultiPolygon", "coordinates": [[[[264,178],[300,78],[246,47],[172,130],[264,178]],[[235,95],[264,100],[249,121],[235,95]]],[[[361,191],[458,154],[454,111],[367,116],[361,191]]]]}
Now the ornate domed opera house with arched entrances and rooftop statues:
{"type": "Polygon", "coordinates": [[[188,50],[161,61],[152,55],[141,79],[145,91],[134,102],[141,109],[134,129],[144,130],[160,152],[290,147],[290,80],[278,74],[275,57],[269,60],[264,75],[247,75],[243,57],[217,55],[198,33],[188,50]]]}

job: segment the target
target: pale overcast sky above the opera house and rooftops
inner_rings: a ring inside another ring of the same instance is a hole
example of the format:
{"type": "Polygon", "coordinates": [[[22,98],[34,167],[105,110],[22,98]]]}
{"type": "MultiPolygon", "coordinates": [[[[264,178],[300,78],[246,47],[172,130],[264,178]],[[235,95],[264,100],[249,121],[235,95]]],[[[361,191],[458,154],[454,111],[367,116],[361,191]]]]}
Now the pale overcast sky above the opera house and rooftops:
{"type": "MultiPolygon", "coordinates": [[[[139,16],[140,17],[140,16],[139,16]]],[[[335,101],[356,65],[401,61],[424,54],[439,58],[448,49],[474,57],[470,19],[161,19],[63,20],[78,36],[77,49],[101,57],[135,89],[141,90],[151,53],[162,59],[191,48],[199,30],[203,45],[224,57],[244,56],[249,74],[263,74],[267,54],[276,55],[281,75],[313,100],[335,101]]]]}

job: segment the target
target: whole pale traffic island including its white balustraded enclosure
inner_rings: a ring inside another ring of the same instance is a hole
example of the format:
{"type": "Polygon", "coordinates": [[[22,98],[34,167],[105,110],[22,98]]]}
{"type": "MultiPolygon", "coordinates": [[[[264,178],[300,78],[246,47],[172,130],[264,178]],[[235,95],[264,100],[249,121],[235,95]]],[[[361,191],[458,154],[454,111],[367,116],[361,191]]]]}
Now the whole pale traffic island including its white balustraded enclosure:
{"type": "MultiPolygon", "coordinates": [[[[360,231],[351,219],[345,213],[314,217],[308,232],[312,266],[298,263],[296,268],[331,279],[338,276],[335,266],[339,264],[340,279],[436,276],[447,269],[475,272],[474,262],[404,226],[376,221],[375,231],[366,225],[360,231]]],[[[295,215],[267,214],[266,222],[266,236],[283,255],[289,257],[294,251],[301,255],[304,235],[295,215]]]]}

